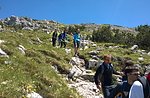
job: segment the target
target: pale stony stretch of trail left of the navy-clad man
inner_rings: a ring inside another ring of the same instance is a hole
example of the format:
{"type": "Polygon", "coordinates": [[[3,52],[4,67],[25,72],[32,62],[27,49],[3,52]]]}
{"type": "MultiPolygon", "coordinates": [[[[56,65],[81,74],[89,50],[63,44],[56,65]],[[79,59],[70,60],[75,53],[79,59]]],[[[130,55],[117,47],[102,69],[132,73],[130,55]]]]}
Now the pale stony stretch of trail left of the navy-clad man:
{"type": "Polygon", "coordinates": [[[94,83],[94,72],[85,69],[83,60],[78,57],[73,57],[70,64],[73,66],[70,69],[68,78],[73,81],[68,86],[75,88],[83,98],[103,98],[103,95],[99,93],[94,83]]]}

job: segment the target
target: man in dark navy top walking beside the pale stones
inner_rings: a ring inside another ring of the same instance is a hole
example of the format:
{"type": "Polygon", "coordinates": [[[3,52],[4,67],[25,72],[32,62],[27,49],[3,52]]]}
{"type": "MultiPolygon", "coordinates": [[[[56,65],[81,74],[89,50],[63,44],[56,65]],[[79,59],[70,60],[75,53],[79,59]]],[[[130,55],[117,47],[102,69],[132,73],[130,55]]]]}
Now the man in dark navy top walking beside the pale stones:
{"type": "Polygon", "coordinates": [[[104,98],[109,98],[110,90],[114,87],[112,83],[112,74],[123,75],[123,73],[114,70],[111,64],[111,55],[104,55],[103,59],[104,62],[100,64],[96,70],[94,80],[99,90],[101,90],[102,87],[104,98]]]}

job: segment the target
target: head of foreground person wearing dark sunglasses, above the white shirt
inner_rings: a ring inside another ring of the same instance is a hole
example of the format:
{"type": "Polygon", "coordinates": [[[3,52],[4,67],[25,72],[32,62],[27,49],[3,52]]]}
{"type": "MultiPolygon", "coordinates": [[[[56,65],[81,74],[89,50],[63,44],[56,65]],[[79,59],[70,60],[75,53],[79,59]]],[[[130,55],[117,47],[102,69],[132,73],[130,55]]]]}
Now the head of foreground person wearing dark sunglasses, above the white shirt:
{"type": "Polygon", "coordinates": [[[128,81],[133,83],[140,75],[139,66],[134,64],[125,68],[125,74],[127,75],[128,81]]]}

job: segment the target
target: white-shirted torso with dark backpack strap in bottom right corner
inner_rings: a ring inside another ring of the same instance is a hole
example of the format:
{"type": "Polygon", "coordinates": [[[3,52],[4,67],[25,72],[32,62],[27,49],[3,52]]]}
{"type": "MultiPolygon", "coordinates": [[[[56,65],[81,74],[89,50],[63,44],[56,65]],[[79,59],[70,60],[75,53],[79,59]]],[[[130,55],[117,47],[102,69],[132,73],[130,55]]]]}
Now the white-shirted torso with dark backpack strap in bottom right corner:
{"type": "Polygon", "coordinates": [[[150,66],[147,66],[145,75],[133,83],[129,98],[150,98],[150,66]]]}

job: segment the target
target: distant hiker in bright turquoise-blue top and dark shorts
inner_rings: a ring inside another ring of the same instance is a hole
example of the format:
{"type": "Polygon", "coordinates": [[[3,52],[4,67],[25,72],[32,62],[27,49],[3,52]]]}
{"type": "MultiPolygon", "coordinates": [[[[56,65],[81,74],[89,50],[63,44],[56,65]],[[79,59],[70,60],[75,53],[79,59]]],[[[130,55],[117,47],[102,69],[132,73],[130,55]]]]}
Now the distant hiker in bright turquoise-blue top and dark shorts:
{"type": "Polygon", "coordinates": [[[76,32],[73,34],[73,43],[74,43],[74,52],[75,56],[79,55],[78,49],[80,46],[80,29],[77,29],[76,32]]]}

